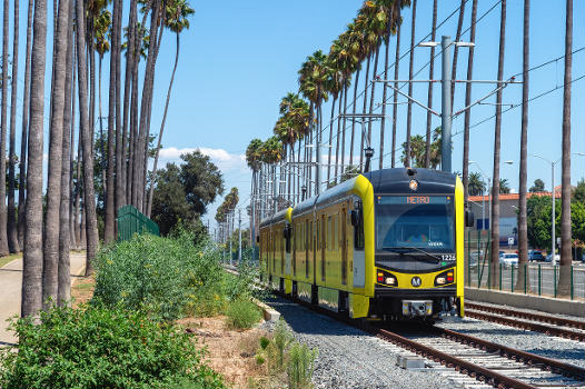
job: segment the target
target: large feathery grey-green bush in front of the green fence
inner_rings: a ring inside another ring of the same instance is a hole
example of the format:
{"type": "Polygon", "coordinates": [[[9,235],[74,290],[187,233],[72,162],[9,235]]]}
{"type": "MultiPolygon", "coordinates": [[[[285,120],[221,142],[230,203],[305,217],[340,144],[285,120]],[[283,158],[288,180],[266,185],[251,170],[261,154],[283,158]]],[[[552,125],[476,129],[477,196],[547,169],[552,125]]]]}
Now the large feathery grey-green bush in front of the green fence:
{"type": "Polygon", "coordinates": [[[207,241],[196,243],[187,231],[172,238],[137,235],[107,247],[96,258],[96,270],[93,302],[146,310],[160,320],[194,311],[194,300],[221,300],[216,297],[224,283],[218,253],[207,241]]]}

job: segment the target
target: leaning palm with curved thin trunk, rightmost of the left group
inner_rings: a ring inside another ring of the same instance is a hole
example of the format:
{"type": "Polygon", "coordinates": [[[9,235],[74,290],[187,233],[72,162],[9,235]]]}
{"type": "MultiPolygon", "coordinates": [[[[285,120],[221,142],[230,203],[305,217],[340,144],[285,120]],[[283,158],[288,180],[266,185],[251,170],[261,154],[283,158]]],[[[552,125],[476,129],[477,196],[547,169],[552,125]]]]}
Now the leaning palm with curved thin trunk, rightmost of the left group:
{"type": "Polygon", "coordinates": [[[155,191],[155,178],[157,174],[158,154],[160,151],[160,141],[162,139],[162,132],[165,131],[165,122],[167,120],[167,111],[169,109],[170,91],[172,89],[172,81],[175,80],[175,72],[177,71],[177,63],[179,63],[179,36],[184,29],[189,28],[189,16],[195,13],[195,10],[189,7],[186,0],[175,0],[167,3],[167,19],[166,26],[176,37],[176,50],[175,50],[175,66],[172,67],[172,73],[170,76],[169,90],[167,91],[167,101],[165,102],[165,112],[162,113],[162,122],[160,123],[160,131],[158,133],[157,151],[155,153],[155,163],[152,166],[152,181],[150,183],[150,192],[148,194],[147,216],[150,217],[150,210],[152,209],[152,196],[155,191]]]}

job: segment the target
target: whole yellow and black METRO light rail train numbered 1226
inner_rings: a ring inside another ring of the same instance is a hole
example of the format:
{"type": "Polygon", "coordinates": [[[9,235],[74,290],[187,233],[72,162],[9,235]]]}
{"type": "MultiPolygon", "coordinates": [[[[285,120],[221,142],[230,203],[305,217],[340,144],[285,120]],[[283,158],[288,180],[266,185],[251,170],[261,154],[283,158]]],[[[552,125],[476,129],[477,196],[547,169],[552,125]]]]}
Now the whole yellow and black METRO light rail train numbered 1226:
{"type": "Polygon", "coordinates": [[[351,318],[463,317],[465,225],[456,174],[358,174],[261,221],[261,277],[351,318]]]}

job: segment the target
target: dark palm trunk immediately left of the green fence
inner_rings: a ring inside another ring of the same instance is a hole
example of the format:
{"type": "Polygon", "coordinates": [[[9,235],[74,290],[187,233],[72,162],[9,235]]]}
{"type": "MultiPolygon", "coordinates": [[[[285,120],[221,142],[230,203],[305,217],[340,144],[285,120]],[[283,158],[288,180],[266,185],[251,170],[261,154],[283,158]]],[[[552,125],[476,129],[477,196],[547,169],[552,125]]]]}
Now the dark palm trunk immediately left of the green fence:
{"type": "MultiPolygon", "coordinates": [[[[115,183],[115,171],[116,171],[116,133],[119,132],[116,120],[116,88],[117,88],[117,76],[118,76],[118,13],[121,12],[119,8],[119,0],[113,1],[112,10],[112,29],[111,29],[111,52],[110,52],[110,83],[108,94],[108,170],[107,170],[107,183],[106,183],[106,218],[103,223],[103,241],[109,243],[113,240],[116,222],[116,183],[115,183]]],[[[103,156],[102,156],[103,158],[103,156]]]]}

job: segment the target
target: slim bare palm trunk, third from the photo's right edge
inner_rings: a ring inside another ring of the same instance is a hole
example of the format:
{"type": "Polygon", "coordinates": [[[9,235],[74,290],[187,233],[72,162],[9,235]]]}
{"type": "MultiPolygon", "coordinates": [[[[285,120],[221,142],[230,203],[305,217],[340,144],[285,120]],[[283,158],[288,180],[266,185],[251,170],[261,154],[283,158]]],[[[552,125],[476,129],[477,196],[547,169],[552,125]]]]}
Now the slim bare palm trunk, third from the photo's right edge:
{"type": "MultiPolygon", "coordinates": [[[[504,77],[504,51],[506,47],[506,0],[502,1],[499,19],[499,53],[497,79],[504,77]]],[[[500,83],[498,83],[500,86],[500,83]]],[[[492,287],[496,287],[499,263],[499,146],[502,133],[502,89],[496,94],[496,126],[494,130],[494,174],[492,178],[492,287]]]]}

